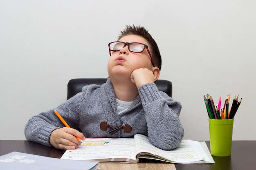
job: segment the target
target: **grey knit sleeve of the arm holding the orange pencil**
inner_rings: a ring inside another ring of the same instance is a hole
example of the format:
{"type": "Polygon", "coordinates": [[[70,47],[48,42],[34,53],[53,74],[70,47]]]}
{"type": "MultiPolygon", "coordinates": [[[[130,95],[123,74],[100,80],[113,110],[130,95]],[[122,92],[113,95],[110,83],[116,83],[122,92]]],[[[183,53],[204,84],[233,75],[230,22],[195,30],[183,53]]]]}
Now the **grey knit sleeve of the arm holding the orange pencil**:
{"type": "Polygon", "coordinates": [[[81,94],[78,94],[57,108],[42,112],[31,117],[25,126],[25,137],[27,140],[51,146],[49,138],[53,130],[65,127],[55,115],[54,110],[63,117],[70,127],[78,127],[79,108],[81,107],[81,94]]]}

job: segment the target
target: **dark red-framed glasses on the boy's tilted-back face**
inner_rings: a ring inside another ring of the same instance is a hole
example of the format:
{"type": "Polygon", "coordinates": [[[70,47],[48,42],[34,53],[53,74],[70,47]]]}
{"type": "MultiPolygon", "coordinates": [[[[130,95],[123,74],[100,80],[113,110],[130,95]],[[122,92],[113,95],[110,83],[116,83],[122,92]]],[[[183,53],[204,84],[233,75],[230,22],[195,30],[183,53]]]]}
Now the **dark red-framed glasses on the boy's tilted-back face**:
{"type": "Polygon", "coordinates": [[[120,41],[110,42],[108,44],[109,55],[111,56],[111,51],[120,51],[126,45],[128,45],[129,51],[131,51],[133,53],[141,53],[142,51],[144,51],[144,49],[147,49],[150,60],[151,60],[151,63],[155,67],[154,61],[153,61],[153,58],[151,57],[148,46],[146,44],[142,44],[142,43],[139,43],[139,42],[120,42],[120,41]]]}

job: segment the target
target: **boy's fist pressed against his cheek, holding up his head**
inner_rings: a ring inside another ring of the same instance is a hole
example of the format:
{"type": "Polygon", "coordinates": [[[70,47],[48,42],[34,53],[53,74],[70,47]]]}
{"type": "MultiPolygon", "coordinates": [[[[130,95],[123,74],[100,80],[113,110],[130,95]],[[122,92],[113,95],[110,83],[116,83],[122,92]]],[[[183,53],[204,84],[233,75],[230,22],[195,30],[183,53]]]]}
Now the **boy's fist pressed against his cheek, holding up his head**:
{"type": "Polygon", "coordinates": [[[137,88],[146,83],[154,83],[154,74],[148,68],[139,68],[132,72],[130,79],[136,84],[137,88]]]}

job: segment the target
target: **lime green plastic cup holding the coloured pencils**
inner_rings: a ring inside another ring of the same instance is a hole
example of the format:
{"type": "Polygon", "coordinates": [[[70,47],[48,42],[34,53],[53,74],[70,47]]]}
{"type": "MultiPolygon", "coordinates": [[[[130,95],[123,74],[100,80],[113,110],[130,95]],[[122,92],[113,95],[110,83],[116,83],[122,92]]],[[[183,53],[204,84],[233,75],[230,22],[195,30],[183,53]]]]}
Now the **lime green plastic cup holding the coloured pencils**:
{"type": "Polygon", "coordinates": [[[209,119],[211,155],[231,155],[234,119],[209,119]]]}

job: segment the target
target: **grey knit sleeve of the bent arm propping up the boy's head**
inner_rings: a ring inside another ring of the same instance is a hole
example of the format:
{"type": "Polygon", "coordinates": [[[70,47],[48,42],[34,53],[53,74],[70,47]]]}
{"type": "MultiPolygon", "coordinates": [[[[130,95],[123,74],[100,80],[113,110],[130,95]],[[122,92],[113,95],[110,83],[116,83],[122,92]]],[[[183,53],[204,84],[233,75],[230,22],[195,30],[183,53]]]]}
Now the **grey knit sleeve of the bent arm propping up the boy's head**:
{"type": "Polygon", "coordinates": [[[145,110],[150,143],[164,150],[176,148],[184,137],[179,119],[180,102],[158,91],[154,83],[144,84],[138,91],[145,110]]]}

